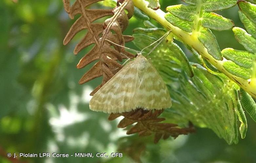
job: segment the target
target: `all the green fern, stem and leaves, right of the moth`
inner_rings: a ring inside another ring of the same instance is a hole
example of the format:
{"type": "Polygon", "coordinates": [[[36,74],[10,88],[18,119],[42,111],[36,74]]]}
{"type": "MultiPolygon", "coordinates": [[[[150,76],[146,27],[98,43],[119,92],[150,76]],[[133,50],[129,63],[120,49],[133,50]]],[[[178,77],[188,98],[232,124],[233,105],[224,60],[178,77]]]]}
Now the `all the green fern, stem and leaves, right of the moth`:
{"type": "MultiPolygon", "coordinates": [[[[190,73],[185,68],[187,64],[183,63],[180,64],[180,67],[177,66],[181,60],[184,60],[179,55],[183,52],[175,50],[180,48],[171,39],[167,45],[163,46],[170,50],[167,51],[162,47],[155,56],[151,56],[154,66],[158,68],[162,77],[170,85],[170,95],[175,101],[175,106],[162,115],[165,118],[176,119],[175,123],[181,123],[181,119],[185,118],[195,125],[211,128],[229,144],[236,143],[238,141],[237,117],[241,122],[239,130],[242,138],[245,138],[247,131],[247,121],[242,107],[254,120],[256,113],[255,102],[251,97],[256,97],[255,5],[245,1],[238,2],[239,16],[249,32],[247,34],[244,29],[234,27],[232,20],[213,13],[213,11],[236,5],[236,1],[185,0],[184,2],[188,5],[170,6],[167,7],[168,13],[164,13],[161,10],[154,11],[146,8],[147,3],[143,0],[134,0],[136,7],[157,20],[168,30],[171,29],[174,34],[173,37],[181,41],[193,53],[198,63],[206,68],[190,63],[194,77],[189,78],[190,73]],[[247,51],[231,48],[220,50],[211,30],[230,29],[234,31],[235,37],[247,51]],[[241,87],[240,92],[243,91],[242,89],[245,91],[239,93],[238,86],[241,87]],[[168,111],[170,112],[169,115],[168,111]]],[[[135,37],[134,42],[138,47],[144,46],[142,45],[143,42],[138,39],[156,40],[157,35],[159,35],[155,34],[155,37],[152,37],[153,29],[151,29],[151,33],[148,30],[135,30],[135,32],[139,32],[133,35],[135,37]]]]}

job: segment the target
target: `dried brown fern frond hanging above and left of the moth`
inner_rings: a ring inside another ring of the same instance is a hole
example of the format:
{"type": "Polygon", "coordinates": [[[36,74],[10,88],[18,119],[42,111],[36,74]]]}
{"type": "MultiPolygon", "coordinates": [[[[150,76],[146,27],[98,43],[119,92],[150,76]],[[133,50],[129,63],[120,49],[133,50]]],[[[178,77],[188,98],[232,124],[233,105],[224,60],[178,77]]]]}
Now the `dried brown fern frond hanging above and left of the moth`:
{"type": "Polygon", "coordinates": [[[126,52],[123,48],[111,45],[105,41],[105,38],[107,38],[116,44],[124,45],[125,42],[133,40],[133,37],[122,34],[128,26],[128,19],[131,18],[133,14],[134,6],[132,1],[122,1],[121,5],[118,1],[118,5],[114,9],[86,9],[89,5],[99,1],[102,0],[76,0],[70,7],[69,0],[63,0],[64,8],[69,13],[71,19],[73,19],[75,15],[81,14],[71,26],[63,44],[68,44],[78,32],[84,29],[87,29],[88,32],[76,45],[74,54],[94,44],[94,47],[79,61],[77,68],[83,68],[91,62],[99,60],[79,81],[80,84],[83,84],[103,75],[102,84],[99,85],[91,95],[122,68],[122,65],[116,60],[121,62],[122,59],[126,59],[127,57],[134,58],[134,55],[126,52]],[[124,10],[127,10],[128,14],[126,14],[124,10]],[[94,23],[94,21],[99,18],[111,15],[113,17],[107,19],[105,22],[94,23]],[[114,31],[114,34],[112,31],[114,31]],[[100,39],[101,35],[103,37],[102,39],[100,39]],[[111,48],[111,46],[114,48],[111,48]]]}

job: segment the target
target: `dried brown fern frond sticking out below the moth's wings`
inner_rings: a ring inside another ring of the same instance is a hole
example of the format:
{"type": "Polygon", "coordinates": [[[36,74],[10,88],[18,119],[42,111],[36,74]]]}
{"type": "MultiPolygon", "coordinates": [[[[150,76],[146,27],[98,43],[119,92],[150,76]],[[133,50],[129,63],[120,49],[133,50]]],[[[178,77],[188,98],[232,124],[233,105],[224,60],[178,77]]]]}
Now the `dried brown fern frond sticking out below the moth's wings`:
{"type": "Polygon", "coordinates": [[[137,109],[132,112],[124,112],[118,114],[110,114],[108,120],[114,120],[119,116],[124,116],[124,118],[118,124],[119,128],[125,128],[129,125],[137,123],[136,125],[129,128],[127,134],[138,133],[140,136],[149,136],[155,134],[154,142],[157,143],[161,138],[164,140],[170,136],[173,138],[179,135],[187,135],[188,133],[194,132],[194,127],[189,124],[187,128],[178,128],[176,124],[170,123],[159,123],[165,120],[165,118],[159,118],[158,116],[164,110],[148,111],[143,109],[137,109]]]}

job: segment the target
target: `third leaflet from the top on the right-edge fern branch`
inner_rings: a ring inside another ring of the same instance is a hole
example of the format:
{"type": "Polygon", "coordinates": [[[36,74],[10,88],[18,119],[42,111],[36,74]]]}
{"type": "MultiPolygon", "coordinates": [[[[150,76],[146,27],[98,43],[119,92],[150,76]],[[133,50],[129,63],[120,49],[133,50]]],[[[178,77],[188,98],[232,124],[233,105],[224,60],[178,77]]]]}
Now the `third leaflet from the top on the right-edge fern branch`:
{"type": "Polygon", "coordinates": [[[256,53],[256,39],[248,34],[244,29],[239,27],[234,27],[233,32],[237,41],[242,44],[245,49],[249,52],[256,53]]]}

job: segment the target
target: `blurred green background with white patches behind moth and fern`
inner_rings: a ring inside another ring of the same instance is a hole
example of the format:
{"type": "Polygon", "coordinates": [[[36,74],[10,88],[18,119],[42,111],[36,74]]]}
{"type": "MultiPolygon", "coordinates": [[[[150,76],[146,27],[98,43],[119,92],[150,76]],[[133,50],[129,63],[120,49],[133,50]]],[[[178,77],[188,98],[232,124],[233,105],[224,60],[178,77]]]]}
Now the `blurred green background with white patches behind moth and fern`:
{"type": "MultiPolygon", "coordinates": [[[[183,3],[160,0],[161,9],[183,3]]],[[[93,8],[102,8],[94,4],[93,8]]],[[[0,162],[12,162],[7,153],[112,153],[112,158],[20,158],[25,162],[256,162],[256,125],[248,120],[248,132],[237,145],[227,145],[211,130],[161,140],[126,136],[108,114],[89,110],[89,93],[101,78],[79,85],[93,65],[76,69],[85,49],[77,56],[73,49],[86,31],[67,46],[62,44],[74,20],[69,19],[61,0],[0,1],[0,162]]],[[[238,7],[218,12],[243,27],[238,7]]],[[[155,25],[156,22],[152,21],[155,25]]],[[[158,25],[159,26],[159,25],[158,25]]],[[[131,35],[143,22],[132,18],[125,34],[131,35]]],[[[160,27],[160,26],[159,26],[160,27]]],[[[220,48],[243,50],[232,31],[213,31],[220,48]]],[[[128,47],[136,49],[132,43],[128,47]]],[[[189,52],[184,49],[188,56],[189,52]]],[[[194,61],[190,58],[190,61],[194,61]]],[[[246,115],[247,116],[247,115],[246,115]]],[[[15,160],[14,160],[15,161],[15,160]]]]}

